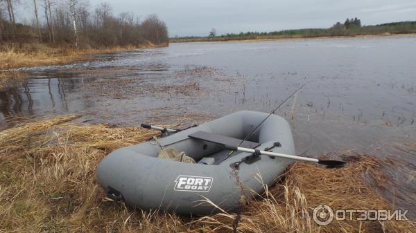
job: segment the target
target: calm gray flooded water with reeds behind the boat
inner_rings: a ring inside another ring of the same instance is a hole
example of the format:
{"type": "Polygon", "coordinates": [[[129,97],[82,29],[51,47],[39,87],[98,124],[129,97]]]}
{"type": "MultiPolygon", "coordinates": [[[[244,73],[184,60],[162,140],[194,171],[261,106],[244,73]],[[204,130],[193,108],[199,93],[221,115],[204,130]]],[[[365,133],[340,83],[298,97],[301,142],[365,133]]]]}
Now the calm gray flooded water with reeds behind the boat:
{"type": "Polygon", "coordinates": [[[271,111],[310,82],[277,111],[297,153],[395,156],[413,166],[403,189],[416,191],[415,36],[171,44],[22,70],[31,78],[0,91],[1,127],[67,113],[130,126],[271,111]]]}

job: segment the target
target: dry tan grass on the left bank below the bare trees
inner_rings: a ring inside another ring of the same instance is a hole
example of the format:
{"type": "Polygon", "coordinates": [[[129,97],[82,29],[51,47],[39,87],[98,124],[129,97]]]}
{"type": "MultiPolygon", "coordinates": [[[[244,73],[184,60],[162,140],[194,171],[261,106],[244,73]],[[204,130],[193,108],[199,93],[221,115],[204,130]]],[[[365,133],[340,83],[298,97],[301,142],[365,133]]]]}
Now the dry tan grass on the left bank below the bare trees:
{"type": "Polygon", "coordinates": [[[0,69],[66,64],[89,59],[87,55],[116,53],[123,50],[153,48],[157,46],[147,43],[141,46],[116,46],[112,48],[90,49],[52,48],[44,44],[31,44],[21,47],[18,48],[17,46],[8,45],[0,49],[0,69]]]}

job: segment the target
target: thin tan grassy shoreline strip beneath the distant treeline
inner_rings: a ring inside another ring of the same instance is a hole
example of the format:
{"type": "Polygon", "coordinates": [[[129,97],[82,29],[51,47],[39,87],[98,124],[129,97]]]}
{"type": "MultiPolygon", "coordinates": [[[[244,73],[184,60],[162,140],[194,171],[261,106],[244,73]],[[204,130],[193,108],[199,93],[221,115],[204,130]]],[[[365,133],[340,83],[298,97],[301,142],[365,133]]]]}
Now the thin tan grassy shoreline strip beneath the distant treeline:
{"type": "Polygon", "coordinates": [[[292,39],[337,39],[337,38],[365,38],[365,37],[395,37],[395,36],[415,36],[416,33],[381,33],[373,35],[341,35],[341,36],[304,36],[304,35],[278,35],[278,36],[254,36],[254,37],[200,37],[190,39],[169,39],[169,43],[193,43],[193,42],[238,42],[238,41],[275,41],[275,40],[292,40],[292,39]]]}

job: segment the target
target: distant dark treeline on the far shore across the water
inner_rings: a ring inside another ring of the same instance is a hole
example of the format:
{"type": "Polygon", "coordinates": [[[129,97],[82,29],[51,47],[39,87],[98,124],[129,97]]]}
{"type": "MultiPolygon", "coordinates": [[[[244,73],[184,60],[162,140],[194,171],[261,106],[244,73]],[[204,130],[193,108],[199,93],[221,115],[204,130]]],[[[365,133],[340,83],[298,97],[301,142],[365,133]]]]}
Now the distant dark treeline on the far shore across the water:
{"type": "Polygon", "coordinates": [[[280,30],[272,32],[240,32],[225,35],[213,35],[212,28],[207,37],[175,37],[172,42],[178,41],[227,41],[243,39],[276,39],[276,38],[303,38],[303,37],[343,37],[357,35],[382,35],[416,33],[416,21],[402,21],[374,26],[361,26],[360,19],[347,19],[344,24],[340,22],[331,28],[305,28],[296,30],[280,30]]]}

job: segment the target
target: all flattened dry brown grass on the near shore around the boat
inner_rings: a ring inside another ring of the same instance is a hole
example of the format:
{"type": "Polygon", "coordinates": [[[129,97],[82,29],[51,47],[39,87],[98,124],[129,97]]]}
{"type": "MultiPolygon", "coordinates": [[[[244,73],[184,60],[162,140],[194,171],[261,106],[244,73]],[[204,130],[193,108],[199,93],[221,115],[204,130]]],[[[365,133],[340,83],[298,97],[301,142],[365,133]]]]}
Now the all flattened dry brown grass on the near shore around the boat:
{"type": "MultiPolygon", "coordinates": [[[[105,198],[96,179],[110,151],[155,132],[74,124],[76,116],[34,120],[0,132],[0,232],[229,232],[235,214],[191,218],[144,212],[105,198]]],[[[178,122],[180,122],[178,120],[178,122]]],[[[415,232],[408,221],[342,221],[318,227],[311,209],[391,209],[376,193],[389,188],[381,167],[363,156],[342,169],[296,163],[275,187],[244,207],[243,232],[415,232]],[[363,179],[363,176],[366,179],[363,179]],[[381,186],[380,186],[381,185],[381,186]]]]}

